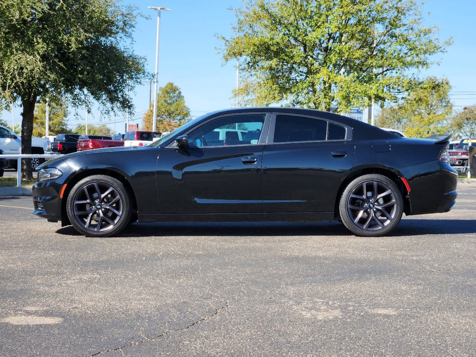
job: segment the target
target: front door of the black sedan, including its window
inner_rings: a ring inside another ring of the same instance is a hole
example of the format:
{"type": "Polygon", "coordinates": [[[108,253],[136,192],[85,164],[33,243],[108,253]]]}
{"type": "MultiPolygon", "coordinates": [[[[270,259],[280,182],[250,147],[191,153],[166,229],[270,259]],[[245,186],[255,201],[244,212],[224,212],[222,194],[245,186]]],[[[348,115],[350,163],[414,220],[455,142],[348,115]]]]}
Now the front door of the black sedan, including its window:
{"type": "Polygon", "coordinates": [[[268,123],[267,113],[217,117],[187,133],[187,148],[173,143],[162,149],[157,161],[161,213],[261,213],[268,123]]]}

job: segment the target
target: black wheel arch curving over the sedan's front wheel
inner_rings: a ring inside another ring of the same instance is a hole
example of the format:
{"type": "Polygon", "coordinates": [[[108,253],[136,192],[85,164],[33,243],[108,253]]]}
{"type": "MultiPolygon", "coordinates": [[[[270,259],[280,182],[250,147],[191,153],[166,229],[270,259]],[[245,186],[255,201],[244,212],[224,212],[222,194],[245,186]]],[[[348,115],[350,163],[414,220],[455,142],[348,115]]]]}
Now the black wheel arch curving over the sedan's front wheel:
{"type": "Polygon", "coordinates": [[[61,226],[67,226],[71,224],[69,222],[68,214],[66,211],[66,201],[68,200],[69,192],[71,192],[71,189],[76,185],[80,180],[83,178],[86,178],[88,176],[92,175],[105,175],[105,176],[110,176],[113,178],[118,179],[120,182],[124,184],[124,187],[126,190],[129,192],[132,198],[132,207],[133,207],[133,213],[137,213],[137,198],[136,194],[130,185],[128,179],[126,176],[118,171],[115,171],[113,169],[88,169],[84,171],[80,171],[77,175],[74,175],[69,179],[69,181],[66,183],[66,188],[63,192],[63,198],[61,198],[61,226]]]}

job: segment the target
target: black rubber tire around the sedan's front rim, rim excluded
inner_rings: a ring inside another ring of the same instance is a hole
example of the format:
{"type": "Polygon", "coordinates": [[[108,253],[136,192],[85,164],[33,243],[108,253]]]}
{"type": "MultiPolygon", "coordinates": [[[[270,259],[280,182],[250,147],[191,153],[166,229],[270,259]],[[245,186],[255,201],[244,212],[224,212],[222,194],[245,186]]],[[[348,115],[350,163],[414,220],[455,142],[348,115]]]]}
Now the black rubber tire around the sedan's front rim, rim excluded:
{"type": "Polygon", "coordinates": [[[106,175],[93,175],[81,179],[74,185],[74,187],[69,192],[68,199],[66,201],[66,211],[68,213],[69,221],[79,233],[84,234],[87,237],[110,237],[119,233],[129,223],[132,214],[130,202],[130,195],[128,191],[118,179],[106,175]],[[119,222],[116,226],[105,232],[93,232],[84,228],[84,226],[79,224],[74,214],[74,200],[76,195],[86,184],[93,182],[105,183],[114,187],[122,200],[123,212],[119,222]]]}

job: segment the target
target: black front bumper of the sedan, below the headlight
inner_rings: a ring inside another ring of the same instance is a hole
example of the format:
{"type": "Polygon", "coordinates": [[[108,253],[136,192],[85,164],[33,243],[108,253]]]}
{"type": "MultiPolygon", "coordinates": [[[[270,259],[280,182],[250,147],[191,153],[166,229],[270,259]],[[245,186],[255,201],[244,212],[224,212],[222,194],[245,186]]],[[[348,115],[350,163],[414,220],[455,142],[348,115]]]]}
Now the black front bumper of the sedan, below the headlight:
{"type": "Polygon", "coordinates": [[[34,215],[51,220],[61,220],[61,184],[55,181],[42,181],[33,185],[34,215]]]}

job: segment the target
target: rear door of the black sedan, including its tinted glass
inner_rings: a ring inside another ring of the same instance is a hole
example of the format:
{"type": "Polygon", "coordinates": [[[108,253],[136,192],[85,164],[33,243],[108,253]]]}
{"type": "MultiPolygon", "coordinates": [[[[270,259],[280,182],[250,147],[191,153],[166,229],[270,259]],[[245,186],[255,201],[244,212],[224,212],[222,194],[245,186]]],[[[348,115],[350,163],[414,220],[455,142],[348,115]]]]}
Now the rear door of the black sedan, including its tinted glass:
{"type": "Polygon", "coordinates": [[[273,113],[263,153],[264,212],[333,212],[352,170],[352,128],[306,115],[273,113]]]}

